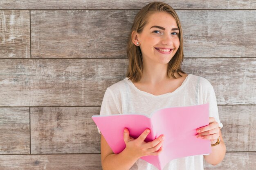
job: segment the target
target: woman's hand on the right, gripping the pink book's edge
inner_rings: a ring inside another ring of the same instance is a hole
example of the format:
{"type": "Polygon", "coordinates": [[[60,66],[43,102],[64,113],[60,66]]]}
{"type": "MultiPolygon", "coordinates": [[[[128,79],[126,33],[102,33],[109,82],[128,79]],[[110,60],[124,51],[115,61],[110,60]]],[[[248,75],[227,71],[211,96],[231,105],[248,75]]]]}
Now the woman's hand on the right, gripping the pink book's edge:
{"type": "Polygon", "coordinates": [[[209,118],[209,125],[196,129],[196,137],[201,139],[210,139],[211,142],[216,141],[220,136],[220,128],[218,122],[214,118],[209,118]]]}

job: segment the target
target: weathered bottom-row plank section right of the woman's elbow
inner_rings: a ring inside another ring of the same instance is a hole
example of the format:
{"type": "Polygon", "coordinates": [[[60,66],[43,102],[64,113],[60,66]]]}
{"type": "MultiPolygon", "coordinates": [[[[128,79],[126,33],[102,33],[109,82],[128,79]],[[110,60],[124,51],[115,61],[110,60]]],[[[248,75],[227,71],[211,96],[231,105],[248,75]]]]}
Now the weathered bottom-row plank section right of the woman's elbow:
{"type": "Polygon", "coordinates": [[[255,170],[256,152],[226,153],[223,161],[212,166],[204,160],[204,170],[255,170]]]}

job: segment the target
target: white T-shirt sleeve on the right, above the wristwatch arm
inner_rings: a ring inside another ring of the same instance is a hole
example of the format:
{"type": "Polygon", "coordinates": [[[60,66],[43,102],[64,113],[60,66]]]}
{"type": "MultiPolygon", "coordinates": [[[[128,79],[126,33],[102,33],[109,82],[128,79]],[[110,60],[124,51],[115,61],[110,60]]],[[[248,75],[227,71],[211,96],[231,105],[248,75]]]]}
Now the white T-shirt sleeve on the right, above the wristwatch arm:
{"type": "Polygon", "coordinates": [[[213,86],[205,78],[202,78],[200,83],[200,92],[203,104],[209,103],[209,117],[215,118],[216,122],[219,123],[219,127],[222,128],[223,124],[220,122],[218,105],[213,86]]]}

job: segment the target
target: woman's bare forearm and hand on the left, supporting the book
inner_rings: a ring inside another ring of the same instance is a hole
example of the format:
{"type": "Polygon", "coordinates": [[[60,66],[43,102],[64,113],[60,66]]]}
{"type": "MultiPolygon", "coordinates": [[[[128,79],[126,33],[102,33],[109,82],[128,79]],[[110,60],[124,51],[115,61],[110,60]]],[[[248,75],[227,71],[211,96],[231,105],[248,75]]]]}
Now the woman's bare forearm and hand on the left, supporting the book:
{"type": "Polygon", "coordinates": [[[159,155],[162,152],[164,135],[160,135],[151,142],[144,142],[150,129],[146,129],[134,139],[128,129],[124,130],[124,142],[126,148],[118,154],[114,154],[106,139],[101,135],[101,165],[103,170],[129,170],[133,164],[143,156],[159,155]]]}

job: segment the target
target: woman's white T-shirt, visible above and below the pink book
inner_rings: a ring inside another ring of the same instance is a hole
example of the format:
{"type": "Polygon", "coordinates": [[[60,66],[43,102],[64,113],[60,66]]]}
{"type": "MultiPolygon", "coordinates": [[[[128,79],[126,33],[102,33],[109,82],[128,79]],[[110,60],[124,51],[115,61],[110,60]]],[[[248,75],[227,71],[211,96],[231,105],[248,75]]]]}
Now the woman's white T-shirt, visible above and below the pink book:
{"type": "MultiPolygon", "coordinates": [[[[150,116],[150,113],[161,108],[205,103],[209,103],[209,117],[215,118],[219,127],[222,128],[215,92],[206,78],[188,74],[182,85],[175,91],[155,96],[137,89],[126,77],[106,89],[100,115],[143,113],[150,116]]],[[[101,134],[100,131],[99,133],[101,134]]],[[[164,170],[203,169],[203,155],[174,159],[164,167],[164,170]]],[[[143,159],[138,159],[130,170],[157,170],[157,168],[143,159]]]]}

